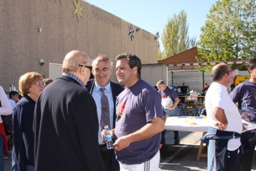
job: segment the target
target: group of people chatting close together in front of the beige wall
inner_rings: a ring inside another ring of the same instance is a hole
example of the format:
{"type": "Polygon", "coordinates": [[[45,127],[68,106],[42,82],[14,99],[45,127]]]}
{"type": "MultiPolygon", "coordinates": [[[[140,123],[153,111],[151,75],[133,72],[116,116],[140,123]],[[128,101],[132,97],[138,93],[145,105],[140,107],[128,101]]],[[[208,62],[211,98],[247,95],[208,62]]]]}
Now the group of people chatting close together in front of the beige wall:
{"type": "Polygon", "coordinates": [[[72,50],[61,71],[54,82],[36,72],[22,75],[23,98],[14,110],[1,96],[1,115],[13,115],[12,170],[157,170],[163,109],[156,89],[141,80],[140,58],[116,57],[119,84],[109,79],[113,62],[101,54],[91,64],[87,54],[72,50]],[[112,130],[113,150],[106,149],[105,125],[112,130]]]}

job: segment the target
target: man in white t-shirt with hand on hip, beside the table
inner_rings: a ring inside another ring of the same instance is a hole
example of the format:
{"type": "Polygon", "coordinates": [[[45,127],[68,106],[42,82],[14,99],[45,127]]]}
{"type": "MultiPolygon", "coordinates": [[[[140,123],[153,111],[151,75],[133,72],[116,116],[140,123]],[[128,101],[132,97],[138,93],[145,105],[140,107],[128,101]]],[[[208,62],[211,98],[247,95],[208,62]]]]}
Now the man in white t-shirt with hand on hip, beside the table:
{"type": "Polygon", "coordinates": [[[227,92],[232,71],[227,64],[217,64],[211,73],[214,82],[205,96],[209,128],[201,138],[208,143],[207,168],[236,171],[240,167],[237,151],[243,126],[241,115],[227,92]]]}

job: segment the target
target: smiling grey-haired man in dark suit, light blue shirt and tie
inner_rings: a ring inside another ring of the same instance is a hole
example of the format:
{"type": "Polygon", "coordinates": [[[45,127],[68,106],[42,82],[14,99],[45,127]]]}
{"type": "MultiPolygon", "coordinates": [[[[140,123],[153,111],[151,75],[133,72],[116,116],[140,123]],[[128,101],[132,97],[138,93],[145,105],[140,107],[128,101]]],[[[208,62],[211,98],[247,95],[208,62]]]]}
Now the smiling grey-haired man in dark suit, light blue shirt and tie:
{"type": "MultiPolygon", "coordinates": [[[[111,59],[104,55],[97,55],[94,57],[94,61],[92,63],[93,69],[92,73],[94,79],[91,79],[87,82],[87,89],[92,94],[96,105],[97,105],[97,114],[100,123],[101,113],[102,113],[102,104],[101,104],[101,91],[100,88],[105,88],[105,95],[108,98],[109,102],[109,117],[110,117],[110,128],[115,128],[115,120],[116,120],[116,97],[120,94],[124,87],[122,85],[117,84],[109,80],[111,73],[113,72],[113,62],[111,59]]],[[[109,150],[106,148],[106,144],[102,141],[100,137],[100,133],[102,128],[99,126],[99,147],[102,153],[102,160],[104,163],[105,171],[118,171],[120,170],[118,161],[115,159],[115,151],[113,149],[109,150]]]]}

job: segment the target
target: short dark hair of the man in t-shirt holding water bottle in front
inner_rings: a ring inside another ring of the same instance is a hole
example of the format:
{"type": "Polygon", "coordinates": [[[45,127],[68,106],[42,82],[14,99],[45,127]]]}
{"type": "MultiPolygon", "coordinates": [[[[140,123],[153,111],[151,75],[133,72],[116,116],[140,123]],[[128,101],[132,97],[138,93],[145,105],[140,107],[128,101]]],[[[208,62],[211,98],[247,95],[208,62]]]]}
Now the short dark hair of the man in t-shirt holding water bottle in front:
{"type": "Polygon", "coordinates": [[[138,67],[138,76],[141,78],[141,61],[136,54],[119,54],[116,56],[116,61],[126,58],[129,61],[130,68],[138,67]]]}

